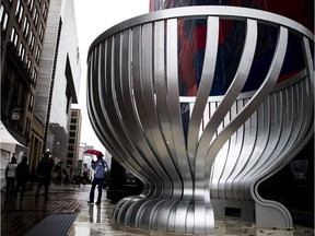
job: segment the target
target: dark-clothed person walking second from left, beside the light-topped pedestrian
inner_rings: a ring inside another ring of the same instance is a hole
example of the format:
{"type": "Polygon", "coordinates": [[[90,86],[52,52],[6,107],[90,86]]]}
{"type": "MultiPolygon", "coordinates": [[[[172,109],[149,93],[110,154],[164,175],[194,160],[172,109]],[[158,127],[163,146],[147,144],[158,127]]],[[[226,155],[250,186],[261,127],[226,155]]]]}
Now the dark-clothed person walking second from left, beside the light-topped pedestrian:
{"type": "Polygon", "coordinates": [[[22,162],[19,163],[16,167],[16,187],[14,194],[14,197],[16,198],[18,192],[20,191],[20,201],[23,200],[28,176],[30,176],[30,166],[27,164],[27,157],[23,156],[22,162]]]}

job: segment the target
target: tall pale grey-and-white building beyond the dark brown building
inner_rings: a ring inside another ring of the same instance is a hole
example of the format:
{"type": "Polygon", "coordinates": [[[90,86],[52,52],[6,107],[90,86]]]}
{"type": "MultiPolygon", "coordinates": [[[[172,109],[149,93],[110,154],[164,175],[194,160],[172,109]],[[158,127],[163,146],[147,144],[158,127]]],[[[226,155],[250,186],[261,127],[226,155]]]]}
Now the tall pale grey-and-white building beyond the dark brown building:
{"type": "Polygon", "coordinates": [[[73,1],[50,2],[34,110],[45,123],[44,150],[65,163],[71,104],[78,103],[81,61],[73,1]]]}

